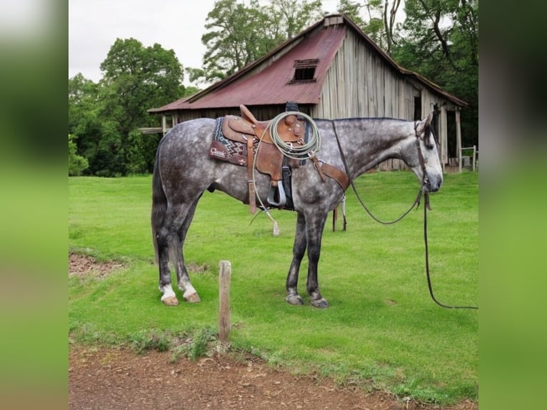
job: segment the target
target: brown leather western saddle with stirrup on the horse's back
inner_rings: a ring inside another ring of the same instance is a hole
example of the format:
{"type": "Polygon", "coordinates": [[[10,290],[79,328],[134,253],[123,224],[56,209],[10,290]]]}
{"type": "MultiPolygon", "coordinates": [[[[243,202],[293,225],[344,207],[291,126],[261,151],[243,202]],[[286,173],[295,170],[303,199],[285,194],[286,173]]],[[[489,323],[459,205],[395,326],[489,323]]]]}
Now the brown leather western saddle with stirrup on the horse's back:
{"type": "MultiPolygon", "coordinates": [[[[247,144],[247,161],[249,169],[249,206],[251,213],[256,211],[256,199],[253,180],[253,166],[271,178],[268,202],[272,206],[283,208],[286,204],[286,195],[283,184],[283,153],[273,143],[271,136],[271,121],[258,121],[246,106],[240,105],[241,116],[226,115],[222,121],[222,134],[232,141],[247,144]],[[254,154],[254,145],[259,142],[254,154]]],[[[278,121],[276,131],[278,138],[286,144],[302,146],[306,139],[306,121],[291,114],[278,121]]],[[[291,159],[291,167],[299,166],[300,161],[291,159]]]]}

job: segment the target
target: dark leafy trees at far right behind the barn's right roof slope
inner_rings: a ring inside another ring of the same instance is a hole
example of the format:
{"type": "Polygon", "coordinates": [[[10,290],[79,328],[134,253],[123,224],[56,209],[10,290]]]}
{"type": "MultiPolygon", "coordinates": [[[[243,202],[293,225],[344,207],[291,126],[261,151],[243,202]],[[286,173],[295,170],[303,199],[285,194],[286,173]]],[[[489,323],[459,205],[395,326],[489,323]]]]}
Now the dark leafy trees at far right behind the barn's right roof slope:
{"type": "Polygon", "coordinates": [[[470,104],[462,143],[478,145],[478,0],[406,0],[393,57],[470,104]]]}

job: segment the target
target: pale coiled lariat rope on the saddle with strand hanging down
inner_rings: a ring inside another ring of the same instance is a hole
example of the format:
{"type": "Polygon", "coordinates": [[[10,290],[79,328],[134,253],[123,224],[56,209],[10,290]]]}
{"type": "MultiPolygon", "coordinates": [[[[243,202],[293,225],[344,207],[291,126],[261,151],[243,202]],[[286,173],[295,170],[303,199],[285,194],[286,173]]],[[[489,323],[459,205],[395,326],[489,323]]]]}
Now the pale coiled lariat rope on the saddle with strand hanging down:
{"type": "MultiPolygon", "coordinates": [[[[271,140],[273,141],[273,144],[277,147],[279,151],[281,151],[281,154],[284,156],[288,156],[288,158],[291,159],[311,159],[314,156],[316,156],[317,151],[319,151],[319,148],[321,147],[321,136],[319,135],[319,129],[317,128],[315,122],[313,119],[311,119],[311,116],[308,116],[307,114],[304,114],[300,111],[286,111],[281,114],[278,114],[275,116],[269,126],[268,129],[270,131],[271,140]],[[287,116],[301,116],[303,119],[306,119],[308,124],[311,126],[311,136],[309,136],[308,141],[304,141],[304,143],[301,146],[293,146],[293,144],[289,143],[287,144],[283,139],[281,139],[281,136],[279,136],[277,132],[277,126],[279,124],[279,121],[282,119],[285,119],[287,116]]],[[[256,146],[256,150],[254,152],[254,159],[253,159],[253,184],[254,184],[254,191],[256,192],[256,197],[259,199],[260,205],[266,215],[271,219],[273,222],[273,236],[279,235],[279,225],[277,224],[277,221],[273,219],[273,216],[271,216],[270,211],[266,206],[264,205],[264,202],[262,202],[262,199],[259,195],[259,190],[256,189],[256,177],[255,177],[255,170],[256,170],[256,155],[259,152],[260,144],[262,144],[262,139],[264,138],[264,134],[266,134],[266,129],[264,129],[264,132],[259,137],[259,144],[256,146]]],[[[253,218],[254,220],[254,218],[253,218]]],[[[252,224],[253,221],[251,221],[252,224]]]]}

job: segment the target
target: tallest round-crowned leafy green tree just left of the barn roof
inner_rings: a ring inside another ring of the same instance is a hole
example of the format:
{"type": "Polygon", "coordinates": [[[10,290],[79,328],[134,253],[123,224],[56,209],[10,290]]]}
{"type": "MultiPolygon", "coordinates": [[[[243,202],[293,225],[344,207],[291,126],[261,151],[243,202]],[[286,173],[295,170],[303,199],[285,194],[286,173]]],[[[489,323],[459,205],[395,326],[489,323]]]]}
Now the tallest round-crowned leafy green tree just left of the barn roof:
{"type": "Polygon", "coordinates": [[[151,171],[152,147],[158,136],[142,135],[138,128],[155,125],[146,112],[184,94],[183,70],[173,50],[159,44],[145,47],[136,39],[116,39],[101,63],[100,98],[104,119],[99,152],[109,174],[151,171]],[[154,141],[152,141],[154,140],[154,141]]]}

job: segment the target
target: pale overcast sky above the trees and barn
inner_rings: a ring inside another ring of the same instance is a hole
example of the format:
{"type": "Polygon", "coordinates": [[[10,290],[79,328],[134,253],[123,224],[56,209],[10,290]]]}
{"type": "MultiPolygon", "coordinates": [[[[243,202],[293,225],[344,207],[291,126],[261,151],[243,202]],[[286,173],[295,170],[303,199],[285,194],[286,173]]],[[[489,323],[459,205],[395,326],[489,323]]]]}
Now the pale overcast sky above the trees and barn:
{"type": "MultiPolygon", "coordinates": [[[[207,14],[215,0],[70,0],[69,78],[81,73],[101,79],[101,62],[116,39],[134,38],[143,46],[173,49],[182,66],[201,67],[207,14]]],[[[323,0],[336,13],[338,0],[323,0]]],[[[188,85],[188,84],[186,84],[188,85]]]]}

